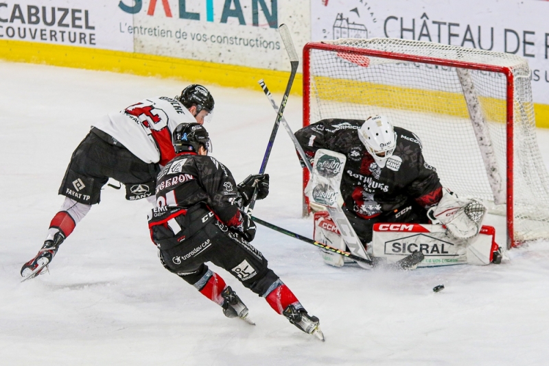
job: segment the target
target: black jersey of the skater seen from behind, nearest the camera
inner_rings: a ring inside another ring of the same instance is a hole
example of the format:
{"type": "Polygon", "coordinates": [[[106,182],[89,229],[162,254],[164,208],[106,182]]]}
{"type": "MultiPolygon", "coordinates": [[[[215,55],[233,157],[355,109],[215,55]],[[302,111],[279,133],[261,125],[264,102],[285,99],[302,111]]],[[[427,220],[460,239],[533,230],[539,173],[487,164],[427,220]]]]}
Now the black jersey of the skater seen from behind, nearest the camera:
{"type": "Polygon", "coordinates": [[[242,229],[242,199],[231,171],[211,156],[180,154],[158,175],[156,206],[191,208],[199,203],[226,225],[242,229]]]}

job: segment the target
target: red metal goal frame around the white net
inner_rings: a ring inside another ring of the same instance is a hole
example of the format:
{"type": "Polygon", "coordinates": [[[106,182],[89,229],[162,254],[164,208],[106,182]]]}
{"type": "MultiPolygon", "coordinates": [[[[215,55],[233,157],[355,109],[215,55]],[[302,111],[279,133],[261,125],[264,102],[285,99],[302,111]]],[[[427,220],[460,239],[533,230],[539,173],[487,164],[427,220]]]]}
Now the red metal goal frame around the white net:
{"type": "MultiPolygon", "coordinates": [[[[303,47],[303,127],[316,121],[310,121],[310,82],[311,82],[311,51],[331,51],[341,53],[353,53],[361,56],[388,58],[404,62],[419,62],[422,64],[434,64],[439,66],[456,67],[460,69],[491,71],[502,73],[506,77],[506,202],[513,203],[513,97],[515,87],[515,76],[509,66],[496,66],[491,64],[481,64],[476,62],[465,62],[457,60],[445,60],[441,58],[423,57],[406,55],[403,53],[393,53],[387,51],[377,51],[373,49],[360,49],[342,45],[332,45],[323,42],[308,42],[303,47]]],[[[303,190],[309,182],[309,171],[303,168],[303,190]]],[[[303,194],[303,216],[310,213],[309,199],[303,194]]],[[[513,204],[506,204],[506,237],[507,249],[519,245],[514,237],[514,211],[513,204]]]]}

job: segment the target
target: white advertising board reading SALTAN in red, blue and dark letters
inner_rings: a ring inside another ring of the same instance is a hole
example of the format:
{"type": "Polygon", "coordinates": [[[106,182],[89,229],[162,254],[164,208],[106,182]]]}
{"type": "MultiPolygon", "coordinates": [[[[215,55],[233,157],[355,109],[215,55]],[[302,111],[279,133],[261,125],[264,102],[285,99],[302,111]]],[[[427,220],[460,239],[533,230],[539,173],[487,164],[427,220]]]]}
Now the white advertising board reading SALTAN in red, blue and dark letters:
{"type": "Polygon", "coordinates": [[[136,52],[220,64],[289,70],[279,25],[296,47],[310,36],[308,1],[122,0],[118,12],[133,15],[117,28],[134,37],[136,52]]]}

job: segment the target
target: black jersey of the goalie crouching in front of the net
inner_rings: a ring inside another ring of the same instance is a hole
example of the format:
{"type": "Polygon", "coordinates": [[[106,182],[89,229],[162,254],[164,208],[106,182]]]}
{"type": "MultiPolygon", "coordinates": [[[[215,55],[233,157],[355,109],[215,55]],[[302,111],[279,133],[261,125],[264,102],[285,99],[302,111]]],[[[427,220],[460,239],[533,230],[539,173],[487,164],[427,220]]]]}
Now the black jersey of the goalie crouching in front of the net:
{"type": "Polygon", "coordinates": [[[428,208],[442,197],[436,169],[423,159],[421,142],[412,132],[394,127],[397,147],[381,168],[358,138],[364,120],[324,119],[295,133],[312,160],[316,150],[329,149],[347,156],[341,193],[351,212],[370,219],[404,206],[410,199],[428,208]]]}

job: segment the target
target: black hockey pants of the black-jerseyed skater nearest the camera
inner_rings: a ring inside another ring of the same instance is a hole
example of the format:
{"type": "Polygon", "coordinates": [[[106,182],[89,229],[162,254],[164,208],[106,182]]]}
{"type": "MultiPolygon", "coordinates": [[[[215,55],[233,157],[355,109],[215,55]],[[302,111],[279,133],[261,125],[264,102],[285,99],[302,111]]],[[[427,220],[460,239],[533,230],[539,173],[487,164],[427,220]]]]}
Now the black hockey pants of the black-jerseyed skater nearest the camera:
{"type": "Polygon", "coordinates": [[[152,225],[152,238],[159,246],[163,265],[194,285],[207,273],[205,263],[211,262],[229,271],[254,293],[266,293],[279,279],[268,268],[266,258],[240,232],[231,230],[209,212],[207,208],[191,208],[185,219],[183,215],[176,217],[186,235],[170,234],[174,238],[171,244],[167,238],[167,230],[171,229],[152,225]]]}

